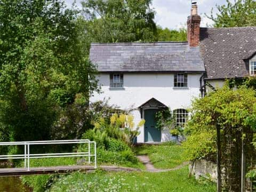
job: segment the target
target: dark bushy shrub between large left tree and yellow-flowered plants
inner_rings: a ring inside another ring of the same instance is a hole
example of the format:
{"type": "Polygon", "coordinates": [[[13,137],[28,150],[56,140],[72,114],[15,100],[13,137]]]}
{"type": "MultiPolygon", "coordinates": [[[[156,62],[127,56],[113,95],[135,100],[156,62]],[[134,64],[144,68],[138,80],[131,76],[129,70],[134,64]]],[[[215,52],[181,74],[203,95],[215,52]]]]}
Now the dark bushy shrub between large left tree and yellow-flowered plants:
{"type": "Polygon", "coordinates": [[[77,94],[73,104],[59,108],[59,120],[51,129],[51,139],[79,139],[87,130],[93,129],[94,122],[104,117],[110,123],[111,115],[119,111],[122,110],[109,106],[107,101],[88,105],[84,95],[77,94]]]}

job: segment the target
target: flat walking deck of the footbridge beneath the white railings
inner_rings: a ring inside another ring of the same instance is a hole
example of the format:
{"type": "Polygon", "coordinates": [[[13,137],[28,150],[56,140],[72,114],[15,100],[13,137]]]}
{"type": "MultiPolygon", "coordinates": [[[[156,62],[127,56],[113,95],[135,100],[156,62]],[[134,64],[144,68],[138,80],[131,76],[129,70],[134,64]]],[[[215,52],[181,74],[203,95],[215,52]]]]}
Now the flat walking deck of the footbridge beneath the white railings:
{"type": "Polygon", "coordinates": [[[52,166],[52,167],[31,167],[30,171],[27,171],[27,168],[6,168],[6,169],[0,169],[0,176],[67,173],[67,172],[73,172],[78,170],[81,170],[81,171],[94,170],[94,166],[72,165],[72,166],[52,166]]]}

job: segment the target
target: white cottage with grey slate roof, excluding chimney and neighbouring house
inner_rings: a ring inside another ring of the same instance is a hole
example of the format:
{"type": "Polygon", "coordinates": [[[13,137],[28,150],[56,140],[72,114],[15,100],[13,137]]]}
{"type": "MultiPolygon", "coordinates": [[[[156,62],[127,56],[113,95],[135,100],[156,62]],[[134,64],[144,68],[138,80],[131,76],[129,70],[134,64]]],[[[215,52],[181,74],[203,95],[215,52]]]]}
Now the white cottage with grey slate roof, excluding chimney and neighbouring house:
{"type": "Polygon", "coordinates": [[[204,64],[199,48],[187,42],[92,43],[90,59],[102,90],[90,101],[109,99],[110,105],[133,109],[135,124],[145,119],[138,142],[170,140],[169,131],[155,127],[156,111],[169,107],[182,126],[191,100],[201,95],[204,64]]]}

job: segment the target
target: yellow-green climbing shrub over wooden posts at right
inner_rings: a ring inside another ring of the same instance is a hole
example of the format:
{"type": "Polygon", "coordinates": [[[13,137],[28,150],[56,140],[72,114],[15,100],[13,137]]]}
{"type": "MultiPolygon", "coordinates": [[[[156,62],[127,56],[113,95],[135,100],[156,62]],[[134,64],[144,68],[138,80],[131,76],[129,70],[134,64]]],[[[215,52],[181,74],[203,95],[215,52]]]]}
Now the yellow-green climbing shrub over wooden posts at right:
{"type": "MultiPolygon", "coordinates": [[[[213,137],[207,136],[209,141],[203,141],[203,145],[200,140],[198,144],[194,143],[191,151],[195,154],[195,158],[198,158],[198,155],[206,157],[209,155],[207,153],[212,153],[217,148],[209,144],[212,139],[218,139],[219,131],[221,149],[219,150],[221,163],[219,171],[222,174],[224,190],[239,191],[241,189],[242,149],[245,151],[247,167],[251,165],[252,159],[255,161],[255,149],[252,145],[253,130],[248,121],[256,114],[255,94],[253,89],[247,89],[244,86],[237,90],[224,86],[204,98],[196,99],[191,108],[191,119],[186,130],[190,135],[188,141],[196,142],[196,139],[190,139],[190,137],[197,137],[196,135],[213,134],[213,137]]],[[[218,140],[212,141],[212,143],[218,143],[218,140]]],[[[190,146],[186,146],[189,150],[190,146]]]]}

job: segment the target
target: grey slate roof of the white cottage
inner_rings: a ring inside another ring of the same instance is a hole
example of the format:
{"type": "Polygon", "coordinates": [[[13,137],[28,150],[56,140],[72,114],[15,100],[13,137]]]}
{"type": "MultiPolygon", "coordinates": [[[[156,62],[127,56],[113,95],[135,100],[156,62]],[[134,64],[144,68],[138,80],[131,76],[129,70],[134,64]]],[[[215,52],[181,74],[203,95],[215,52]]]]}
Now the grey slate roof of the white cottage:
{"type": "Polygon", "coordinates": [[[199,48],[187,42],[92,43],[90,59],[100,72],[205,71],[199,48]]]}

